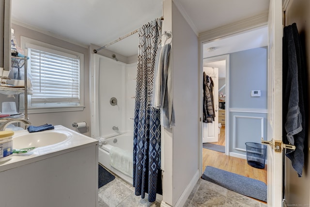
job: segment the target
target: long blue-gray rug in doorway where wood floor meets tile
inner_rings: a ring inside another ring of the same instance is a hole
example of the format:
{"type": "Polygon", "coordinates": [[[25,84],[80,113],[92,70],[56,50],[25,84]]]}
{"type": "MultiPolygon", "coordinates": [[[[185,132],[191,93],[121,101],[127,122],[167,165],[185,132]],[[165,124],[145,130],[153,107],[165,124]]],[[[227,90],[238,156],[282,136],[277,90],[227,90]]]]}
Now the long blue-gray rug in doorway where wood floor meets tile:
{"type": "Polygon", "coordinates": [[[206,166],[202,179],[228,190],[267,202],[267,185],[262,181],[206,166]]]}

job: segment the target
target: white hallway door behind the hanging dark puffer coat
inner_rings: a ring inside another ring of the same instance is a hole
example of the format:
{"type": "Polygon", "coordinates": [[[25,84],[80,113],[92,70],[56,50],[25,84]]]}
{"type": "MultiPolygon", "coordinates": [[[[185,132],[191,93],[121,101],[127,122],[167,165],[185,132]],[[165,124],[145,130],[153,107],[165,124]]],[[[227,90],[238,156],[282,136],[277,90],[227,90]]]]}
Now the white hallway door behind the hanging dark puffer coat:
{"type": "Polygon", "coordinates": [[[203,123],[202,143],[212,143],[218,141],[218,68],[203,67],[203,72],[212,78],[214,82],[213,97],[215,107],[215,120],[212,123],[203,123]]]}

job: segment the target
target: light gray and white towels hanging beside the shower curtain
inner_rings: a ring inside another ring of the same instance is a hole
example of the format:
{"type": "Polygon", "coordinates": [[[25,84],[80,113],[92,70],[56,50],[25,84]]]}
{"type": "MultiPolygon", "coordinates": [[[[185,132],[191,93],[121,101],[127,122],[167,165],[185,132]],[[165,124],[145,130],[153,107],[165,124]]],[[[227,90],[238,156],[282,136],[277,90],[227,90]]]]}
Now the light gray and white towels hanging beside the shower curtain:
{"type": "Polygon", "coordinates": [[[153,84],[152,106],[160,108],[160,124],[165,128],[174,126],[172,94],[171,44],[157,49],[153,84]]]}

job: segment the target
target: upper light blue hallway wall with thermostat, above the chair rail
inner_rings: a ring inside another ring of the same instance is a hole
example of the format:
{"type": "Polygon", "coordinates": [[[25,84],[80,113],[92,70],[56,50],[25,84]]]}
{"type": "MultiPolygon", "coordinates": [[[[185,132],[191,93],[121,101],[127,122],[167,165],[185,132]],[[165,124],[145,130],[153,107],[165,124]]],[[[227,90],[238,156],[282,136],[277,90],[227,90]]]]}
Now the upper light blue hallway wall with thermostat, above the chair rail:
{"type": "Polygon", "coordinates": [[[230,107],[267,109],[267,47],[230,54],[230,107]],[[251,97],[261,90],[261,97],[251,97]]]}

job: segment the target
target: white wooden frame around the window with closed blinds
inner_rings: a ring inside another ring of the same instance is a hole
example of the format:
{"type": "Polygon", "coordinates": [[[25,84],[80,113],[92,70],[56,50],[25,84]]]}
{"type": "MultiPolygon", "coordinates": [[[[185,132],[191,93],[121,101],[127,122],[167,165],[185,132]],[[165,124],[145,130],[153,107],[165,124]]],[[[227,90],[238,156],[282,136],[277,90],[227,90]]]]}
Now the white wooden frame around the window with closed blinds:
{"type": "MultiPolygon", "coordinates": [[[[38,40],[34,40],[28,37],[20,36],[21,47],[24,48],[25,55],[28,55],[28,48],[31,45],[37,47],[43,47],[51,50],[56,50],[59,53],[66,53],[79,57],[79,105],[78,106],[55,106],[55,107],[38,107],[31,108],[31,102],[28,102],[28,113],[49,113],[49,112],[64,112],[64,111],[83,111],[85,108],[84,105],[84,54],[76,51],[72,51],[69,49],[61,48],[58,46],[54,46],[51,44],[47,44],[38,40]]],[[[36,48],[34,48],[36,49],[36,48]]],[[[27,62],[27,69],[30,70],[30,62],[27,62]]],[[[30,100],[30,98],[28,98],[30,100]]],[[[21,101],[22,102],[22,101],[21,101]]],[[[21,104],[21,103],[20,103],[21,104]]],[[[23,105],[23,104],[22,104],[23,105]]],[[[21,105],[21,107],[22,107],[21,105]]]]}

